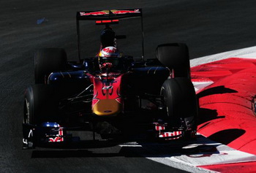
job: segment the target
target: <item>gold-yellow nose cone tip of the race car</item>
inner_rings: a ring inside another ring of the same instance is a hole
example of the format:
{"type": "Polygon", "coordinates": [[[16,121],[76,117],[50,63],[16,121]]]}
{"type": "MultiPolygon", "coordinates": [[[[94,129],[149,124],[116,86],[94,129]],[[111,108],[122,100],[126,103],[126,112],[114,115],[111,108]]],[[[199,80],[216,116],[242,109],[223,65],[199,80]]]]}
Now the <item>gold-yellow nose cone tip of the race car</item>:
{"type": "Polygon", "coordinates": [[[94,104],[92,107],[92,112],[98,116],[115,116],[121,112],[122,104],[120,104],[116,99],[102,99],[94,104]]]}

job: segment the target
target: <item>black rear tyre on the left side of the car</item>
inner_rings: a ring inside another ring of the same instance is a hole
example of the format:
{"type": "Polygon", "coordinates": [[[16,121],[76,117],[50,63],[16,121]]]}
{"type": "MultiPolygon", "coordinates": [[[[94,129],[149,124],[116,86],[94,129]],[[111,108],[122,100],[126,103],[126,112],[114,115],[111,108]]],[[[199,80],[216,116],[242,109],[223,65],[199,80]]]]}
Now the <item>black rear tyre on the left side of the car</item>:
{"type": "Polygon", "coordinates": [[[51,72],[67,69],[67,54],[64,49],[39,49],[34,55],[34,82],[46,83],[51,72]]]}

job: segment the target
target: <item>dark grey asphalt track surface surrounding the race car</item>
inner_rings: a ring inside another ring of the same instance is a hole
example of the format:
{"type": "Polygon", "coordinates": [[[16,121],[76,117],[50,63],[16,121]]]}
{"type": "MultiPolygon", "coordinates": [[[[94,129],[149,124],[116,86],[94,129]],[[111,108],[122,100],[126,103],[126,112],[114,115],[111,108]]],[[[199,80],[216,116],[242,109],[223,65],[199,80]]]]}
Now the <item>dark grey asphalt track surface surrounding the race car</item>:
{"type": "Polygon", "coordinates": [[[146,58],[167,42],[186,42],[190,58],[256,45],[254,0],[0,1],[0,172],[184,172],[118,145],[21,150],[23,93],[34,83],[34,50],[63,47],[75,60],[75,12],[136,7],[143,8],[146,58]],[[41,18],[47,20],[37,25],[41,18]]]}

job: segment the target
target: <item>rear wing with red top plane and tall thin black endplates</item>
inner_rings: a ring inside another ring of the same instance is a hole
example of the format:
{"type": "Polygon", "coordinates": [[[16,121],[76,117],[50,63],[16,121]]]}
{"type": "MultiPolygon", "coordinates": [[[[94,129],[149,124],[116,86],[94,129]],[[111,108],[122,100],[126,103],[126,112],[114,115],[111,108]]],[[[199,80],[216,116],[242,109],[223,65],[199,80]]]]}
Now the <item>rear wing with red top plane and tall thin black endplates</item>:
{"type": "Polygon", "coordinates": [[[78,36],[78,58],[80,59],[80,20],[95,20],[96,24],[118,23],[118,20],[140,18],[142,34],[142,58],[144,60],[144,34],[143,34],[143,16],[142,9],[111,9],[99,11],[77,12],[77,36],[78,36]]]}

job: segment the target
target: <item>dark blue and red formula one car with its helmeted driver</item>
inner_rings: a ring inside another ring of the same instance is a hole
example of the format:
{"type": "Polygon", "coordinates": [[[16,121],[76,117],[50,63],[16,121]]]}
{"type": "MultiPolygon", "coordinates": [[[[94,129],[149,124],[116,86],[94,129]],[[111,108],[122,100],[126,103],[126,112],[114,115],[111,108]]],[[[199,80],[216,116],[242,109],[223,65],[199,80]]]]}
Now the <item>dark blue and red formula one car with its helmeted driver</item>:
{"type": "Polygon", "coordinates": [[[181,43],[157,46],[156,58],[135,59],[118,50],[111,27],[119,20],[138,18],[142,9],[77,13],[79,61],[67,61],[63,49],[37,50],[35,85],[26,89],[23,148],[72,140],[69,131],[108,134],[139,133],[159,140],[195,139],[197,99],[190,80],[189,53],[181,43]],[[105,28],[97,55],[81,58],[80,20],[105,28]],[[111,25],[111,26],[110,26],[111,25]]]}

